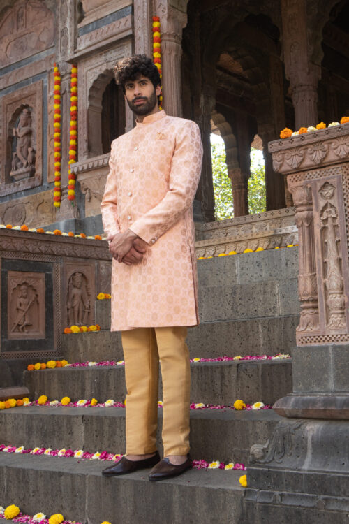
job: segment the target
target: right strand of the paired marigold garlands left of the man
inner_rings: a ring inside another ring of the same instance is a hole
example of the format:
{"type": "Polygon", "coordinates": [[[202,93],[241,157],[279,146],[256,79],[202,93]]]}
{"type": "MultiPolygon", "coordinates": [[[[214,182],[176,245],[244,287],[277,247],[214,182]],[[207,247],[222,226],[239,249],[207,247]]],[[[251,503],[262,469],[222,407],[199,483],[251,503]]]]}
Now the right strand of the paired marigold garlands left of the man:
{"type": "Polygon", "coordinates": [[[70,80],[70,126],[69,126],[69,168],[68,168],[68,200],[75,200],[75,174],[71,172],[70,164],[77,161],[77,66],[71,67],[70,80]]]}

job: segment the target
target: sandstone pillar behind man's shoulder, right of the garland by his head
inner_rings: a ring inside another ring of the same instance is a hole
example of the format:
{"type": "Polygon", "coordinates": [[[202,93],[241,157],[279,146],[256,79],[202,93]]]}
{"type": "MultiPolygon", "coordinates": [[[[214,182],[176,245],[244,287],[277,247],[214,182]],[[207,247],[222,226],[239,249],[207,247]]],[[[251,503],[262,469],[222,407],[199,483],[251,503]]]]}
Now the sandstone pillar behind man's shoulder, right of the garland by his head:
{"type": "Polygon", "coordinates": [[[181,35],[186,26],[186,0],[155,0],[161,22],[161,69],[163,108],[172,117],[181,117],[181,35]]]}

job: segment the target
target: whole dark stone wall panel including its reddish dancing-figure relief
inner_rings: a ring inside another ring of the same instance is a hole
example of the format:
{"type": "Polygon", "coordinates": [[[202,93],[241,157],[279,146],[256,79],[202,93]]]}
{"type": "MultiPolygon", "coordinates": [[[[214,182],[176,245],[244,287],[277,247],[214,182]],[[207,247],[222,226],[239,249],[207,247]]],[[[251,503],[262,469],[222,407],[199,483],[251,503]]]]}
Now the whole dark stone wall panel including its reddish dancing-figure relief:
{"type": "MultiPolygon", "coordinates": [[[[22,240],[23,244],[23,240],[22,240]]],[[[59,293],[54,264],[44,256],[1,250],[0,358],[25,358],[54,354],[59,293]]]]}

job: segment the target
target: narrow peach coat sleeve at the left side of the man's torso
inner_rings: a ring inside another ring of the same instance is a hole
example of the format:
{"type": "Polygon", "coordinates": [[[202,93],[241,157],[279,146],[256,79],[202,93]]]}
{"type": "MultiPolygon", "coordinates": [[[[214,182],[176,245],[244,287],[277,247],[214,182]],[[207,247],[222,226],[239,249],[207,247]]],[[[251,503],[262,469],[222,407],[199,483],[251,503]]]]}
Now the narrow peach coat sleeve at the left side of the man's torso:
{"type": "Polygon", "coordinates": [[[107,175],[104,194],[101,202],[101,213],[103,228],[107,235],[120,233],[120,226],[117,219],[117,177],[115,175],[115,164],[112,159],[112,152],[109,159],[110,171],[107,175]]]}

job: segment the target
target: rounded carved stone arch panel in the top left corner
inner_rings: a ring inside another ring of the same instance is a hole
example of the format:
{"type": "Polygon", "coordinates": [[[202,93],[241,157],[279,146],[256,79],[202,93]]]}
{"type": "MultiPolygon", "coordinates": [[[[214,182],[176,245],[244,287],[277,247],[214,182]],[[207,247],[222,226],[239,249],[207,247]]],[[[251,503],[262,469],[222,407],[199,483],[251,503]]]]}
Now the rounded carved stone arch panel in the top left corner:
{"type": "Polygon", "coordinates": [[[54,15],[44,1],[20,0],[0,20],[0,68],[54,45],[54,15]]]}

